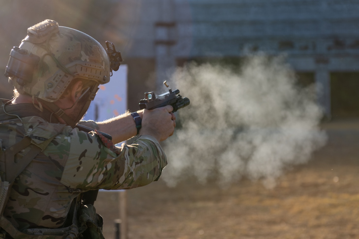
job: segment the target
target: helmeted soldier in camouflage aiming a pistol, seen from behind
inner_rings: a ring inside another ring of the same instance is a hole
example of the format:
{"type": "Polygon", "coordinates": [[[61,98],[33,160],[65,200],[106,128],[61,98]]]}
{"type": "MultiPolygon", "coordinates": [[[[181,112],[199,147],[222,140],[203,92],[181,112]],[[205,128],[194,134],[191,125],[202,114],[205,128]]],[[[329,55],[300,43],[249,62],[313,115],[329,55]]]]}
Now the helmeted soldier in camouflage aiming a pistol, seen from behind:
{"type": "Polygon", "coordinates": [[[159,179],[167,165],[159,141],[176,126],[172,106],[80,121],[119,65],[113,59],[92,37],[53,20],[28,28],[11,50],[5,75],[15,97],[0,102],[0,238],[103,238],[85,192],[159,179]],[[93,130],[80,131],[78,122],[93,130]],[[100,131],[113,143],[140,136],[115,147],[100,131]]]}

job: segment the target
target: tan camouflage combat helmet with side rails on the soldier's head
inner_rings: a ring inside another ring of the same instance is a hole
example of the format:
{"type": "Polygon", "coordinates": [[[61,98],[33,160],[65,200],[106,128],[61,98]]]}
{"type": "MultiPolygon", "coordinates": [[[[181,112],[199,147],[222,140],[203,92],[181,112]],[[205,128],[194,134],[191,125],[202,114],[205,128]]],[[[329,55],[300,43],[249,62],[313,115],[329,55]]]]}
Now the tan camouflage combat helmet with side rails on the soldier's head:
{"type": "Polygon", "coordinates": [[[27,32],[11,50],[5,71],[20,93],[54,102],[75,78],[95,81],[96,87],[109,82],[109,57],[94,38],[48,19],[27,32]]]}

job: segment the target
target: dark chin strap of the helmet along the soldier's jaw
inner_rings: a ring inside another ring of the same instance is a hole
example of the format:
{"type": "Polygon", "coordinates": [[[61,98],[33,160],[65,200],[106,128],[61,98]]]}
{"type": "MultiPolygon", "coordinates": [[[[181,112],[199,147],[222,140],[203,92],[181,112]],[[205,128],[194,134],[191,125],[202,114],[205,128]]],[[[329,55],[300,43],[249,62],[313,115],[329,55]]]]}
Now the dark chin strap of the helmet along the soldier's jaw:
{"type": "Polygon", "coordinates": [[[71,126],[71,128],[75,128],[76,124],[81,120],[81,118],[84,116],[84,114],[86,113],[86,111],[88,110],[91,101],[95,98],[96,92],[98,90],[97,85],[94,85],[92,90],[91,90],[91,94],[87,100],[87,102],[85,103],[84,107],[81,109],[81,111],[79,112],[77,118],[75,120],[73,120],[70,116],[68,116],[65,113],[66,109],[71,109],[72,107],[75,106],[75,104],[90,90],[90,87],[88,87],[84,93],[82,93],[80,95],[80,97],[75,101],[75,103],[73,104],[73,106],[71,106],[70,108],[66,108],[66,109],[61,109],[60,107],[58,107],[56,104],[54,104],[53,102],[47,102],[45,100],[42,99],[37,99],[39,101],[41,101],[42,104],[44,104],[45,106],[47,106],[50,111],[52,111],[53,113],[56,114],[56,116],[60,117],[62,120],[64,120],[66,122],[67,125],[71,126]]]}

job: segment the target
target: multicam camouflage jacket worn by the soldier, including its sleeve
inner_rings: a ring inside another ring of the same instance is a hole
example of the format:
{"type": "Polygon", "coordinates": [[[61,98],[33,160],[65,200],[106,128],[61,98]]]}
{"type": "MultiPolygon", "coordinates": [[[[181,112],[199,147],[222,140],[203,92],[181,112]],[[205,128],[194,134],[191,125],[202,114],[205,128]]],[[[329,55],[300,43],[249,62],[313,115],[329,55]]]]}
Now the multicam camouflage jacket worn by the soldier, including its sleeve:
{"type": "MultiPolygon", "coordinates": [[[[25,136],[42,150],[15,179],[5,206],[4,216],[20,231],[60,228],[81,192],[144,186],[157,181],[167,165],[162,148],[151,136],[142,135],[131,145],[123,143],[117,154],[95,132],[49,123],[38,116],[23,117],[21,112],[17,115],[20,118],[0,118],[1,150],[25,136]]],[[[98,129],[93,121],[81,124],[98,129]]]]}

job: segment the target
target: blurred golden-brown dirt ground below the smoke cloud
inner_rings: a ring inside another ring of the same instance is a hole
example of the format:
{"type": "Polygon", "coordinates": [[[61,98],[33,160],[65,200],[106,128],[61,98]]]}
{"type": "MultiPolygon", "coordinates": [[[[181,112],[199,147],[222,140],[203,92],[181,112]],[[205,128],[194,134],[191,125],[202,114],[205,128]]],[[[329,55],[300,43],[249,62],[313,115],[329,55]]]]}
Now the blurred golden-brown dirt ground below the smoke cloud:
{"type": "MultiPolygon", "coordinates": [[[[359,238],[359,121],[322,127],[327,145],[274,189],[248,179],[227,189],[188,179],[127,191],[128,239],[359,238]]],[[[105,237],[115,238],[118,192],[100,192],[95,206],[105,237]]]]}

